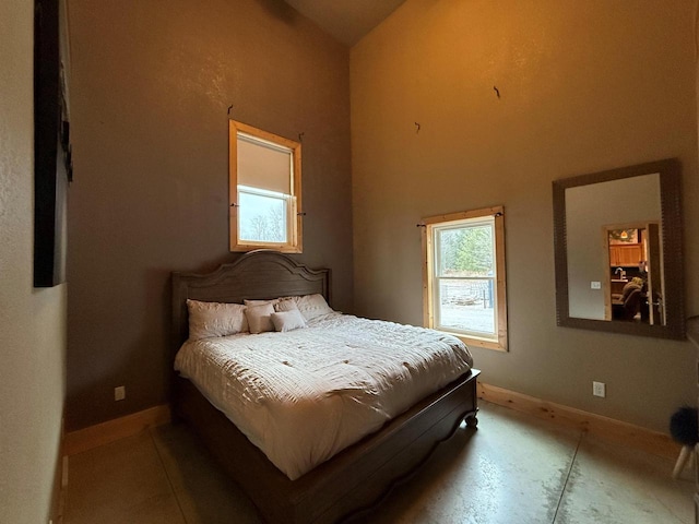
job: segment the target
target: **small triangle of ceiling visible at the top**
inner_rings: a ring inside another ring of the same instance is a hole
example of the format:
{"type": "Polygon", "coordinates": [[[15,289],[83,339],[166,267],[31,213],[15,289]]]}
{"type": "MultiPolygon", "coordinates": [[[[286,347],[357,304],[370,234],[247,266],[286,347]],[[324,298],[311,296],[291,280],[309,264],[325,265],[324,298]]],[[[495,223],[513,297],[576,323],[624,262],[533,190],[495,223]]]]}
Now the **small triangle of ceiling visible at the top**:
{"type": "Polygon", "coordinates": [[[285,0],[340,41],[354,46],[405,0],[285,0]]]}

